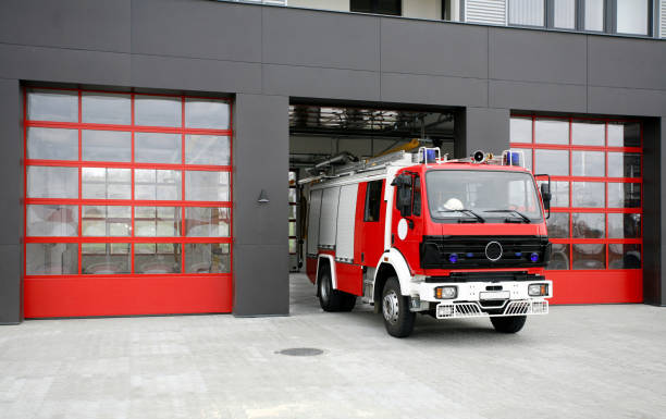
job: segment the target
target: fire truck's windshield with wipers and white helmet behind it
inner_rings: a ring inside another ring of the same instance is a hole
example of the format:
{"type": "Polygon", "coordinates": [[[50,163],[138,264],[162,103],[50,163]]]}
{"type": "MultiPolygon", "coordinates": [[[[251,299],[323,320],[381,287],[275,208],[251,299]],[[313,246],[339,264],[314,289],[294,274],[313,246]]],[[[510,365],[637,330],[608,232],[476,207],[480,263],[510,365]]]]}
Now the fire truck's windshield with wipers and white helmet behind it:
{"type": "Polygon", "coordinates": [[[534,181],[528,173],[433,170],[425,174],[425,184],[430,215],[435,221],[529,223],[542,220],[534,181]]]}

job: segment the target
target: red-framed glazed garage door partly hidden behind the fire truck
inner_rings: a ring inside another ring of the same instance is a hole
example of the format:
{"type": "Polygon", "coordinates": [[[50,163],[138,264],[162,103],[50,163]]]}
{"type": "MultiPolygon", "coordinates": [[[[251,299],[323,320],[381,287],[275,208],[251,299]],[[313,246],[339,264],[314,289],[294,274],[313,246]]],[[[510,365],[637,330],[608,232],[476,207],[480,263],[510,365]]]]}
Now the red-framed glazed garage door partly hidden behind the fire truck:
{"type": "Polygon", "coordinates": [[[511,148],[552,176],[553,301],[642,301],[641,122],[516,115],[510,126],[511,148]]]}

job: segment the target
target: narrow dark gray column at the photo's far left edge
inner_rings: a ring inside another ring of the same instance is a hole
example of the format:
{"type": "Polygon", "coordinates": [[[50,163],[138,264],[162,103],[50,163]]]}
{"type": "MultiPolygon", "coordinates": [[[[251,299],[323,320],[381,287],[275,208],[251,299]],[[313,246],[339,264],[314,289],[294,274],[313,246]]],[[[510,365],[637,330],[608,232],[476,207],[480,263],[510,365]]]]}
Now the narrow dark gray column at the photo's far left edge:
{"type": "Polygon", "coordinates": [[[0,78],[0,324],[23,321],[23,116],[17,79],[0,78]]]}

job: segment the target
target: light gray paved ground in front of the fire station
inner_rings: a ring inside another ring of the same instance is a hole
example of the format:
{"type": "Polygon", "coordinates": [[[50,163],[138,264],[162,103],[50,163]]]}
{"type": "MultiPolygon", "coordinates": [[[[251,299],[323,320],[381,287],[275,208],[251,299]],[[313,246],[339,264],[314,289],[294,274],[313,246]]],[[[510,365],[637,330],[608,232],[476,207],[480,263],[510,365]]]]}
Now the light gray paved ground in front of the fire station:
{"type": "Polygon", "coordinates": [[[0,326],[0,418],[666,417],[666,308],[554,307],[517,335],[418,317],[396,340],[368,306],[324,313],[306,281],[291,317],[0,326]]]}

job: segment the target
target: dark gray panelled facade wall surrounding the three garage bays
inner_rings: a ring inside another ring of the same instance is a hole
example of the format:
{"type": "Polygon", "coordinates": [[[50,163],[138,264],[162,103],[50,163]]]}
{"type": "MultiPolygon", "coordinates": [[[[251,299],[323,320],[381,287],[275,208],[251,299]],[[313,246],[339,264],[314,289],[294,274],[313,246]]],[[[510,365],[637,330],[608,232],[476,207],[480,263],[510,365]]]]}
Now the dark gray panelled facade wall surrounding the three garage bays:
{"type": "Polygon", "coordinates": [[[23,317],[24,82],[235,95],[234,311],[259,316],[288,313],[289,98],[459,107],[460,152],[506,146],[513,110],[645,119],[644,300],[663,305],[664,74],[653,39],[203,0],[3,1],[0,323],[23,317]]]}

